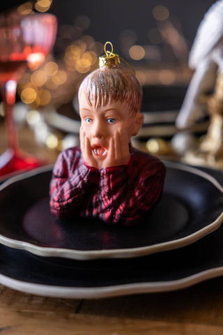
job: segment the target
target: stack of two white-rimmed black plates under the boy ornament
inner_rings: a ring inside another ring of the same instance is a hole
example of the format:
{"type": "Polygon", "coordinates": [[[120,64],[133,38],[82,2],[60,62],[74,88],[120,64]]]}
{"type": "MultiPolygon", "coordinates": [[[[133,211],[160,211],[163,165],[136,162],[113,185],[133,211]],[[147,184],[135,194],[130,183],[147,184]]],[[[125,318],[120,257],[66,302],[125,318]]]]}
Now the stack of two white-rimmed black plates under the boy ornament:
{"type": "MultiPolygon", "coordinates": [[[[145,225],[132,228],[55,218],[52,166],[5,181],[0,283],[36,295],[98,298],[176,290],[222,275],[222,186],[207,172],[165,164],[162,200],[145,225]]],[[[222,172],[209,172],[223,184],[222,172]]]]}

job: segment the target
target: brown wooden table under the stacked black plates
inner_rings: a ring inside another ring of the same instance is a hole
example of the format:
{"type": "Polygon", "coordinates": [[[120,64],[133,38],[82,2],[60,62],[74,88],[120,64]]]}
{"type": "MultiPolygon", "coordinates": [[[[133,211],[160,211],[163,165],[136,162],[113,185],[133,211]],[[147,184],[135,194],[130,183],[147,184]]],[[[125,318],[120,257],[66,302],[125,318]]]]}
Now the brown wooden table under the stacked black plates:
{"type": "MultiPolygon", "coordinates": [[[[54,161],[56,153],[36,147],[29,129],[20,141],[54,161]]],[[[0,152],[5,147],[0,125],[0,152]]],[[[92,300],[39,297],[0,285],[0,333],[222,335],[223,277],[174,292],[92,300]]]]}

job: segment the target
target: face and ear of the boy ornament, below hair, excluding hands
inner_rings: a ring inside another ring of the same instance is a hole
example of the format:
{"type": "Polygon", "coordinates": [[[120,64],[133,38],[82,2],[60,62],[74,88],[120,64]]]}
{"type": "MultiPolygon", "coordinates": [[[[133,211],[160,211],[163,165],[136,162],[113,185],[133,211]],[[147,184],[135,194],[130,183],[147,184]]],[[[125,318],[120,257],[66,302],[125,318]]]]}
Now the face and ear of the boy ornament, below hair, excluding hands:
{"type": "Polygon", "coordinates": [[[83,91],[79,92],[79,114],[82,130],[89,138],[93,156],[100,159],[107,155],[109,143],[117,132],[125,132],[130,142],[130,138],[137,135],[144,119],[143,114],[133,114],[128,104],[120,101],[93,107],[87,102],[83,91]]]}

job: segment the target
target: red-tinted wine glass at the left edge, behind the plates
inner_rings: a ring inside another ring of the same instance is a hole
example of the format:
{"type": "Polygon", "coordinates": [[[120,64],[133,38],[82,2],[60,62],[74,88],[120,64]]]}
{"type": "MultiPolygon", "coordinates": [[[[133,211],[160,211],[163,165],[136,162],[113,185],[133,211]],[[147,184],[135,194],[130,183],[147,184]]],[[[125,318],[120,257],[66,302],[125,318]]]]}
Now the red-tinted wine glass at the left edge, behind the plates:
{"type": "Polygon", "coordinates": [[[35,13],[20,20],[13,16],[0,20],[0,91],[8,137],[8,149],[0,155],[0,178],[43,165],[20,149],[12,112],[17,82],[27,66],[36,70],[43,63],[54,45],[56,29],[56,17],[49,13],[35,13]]]}

